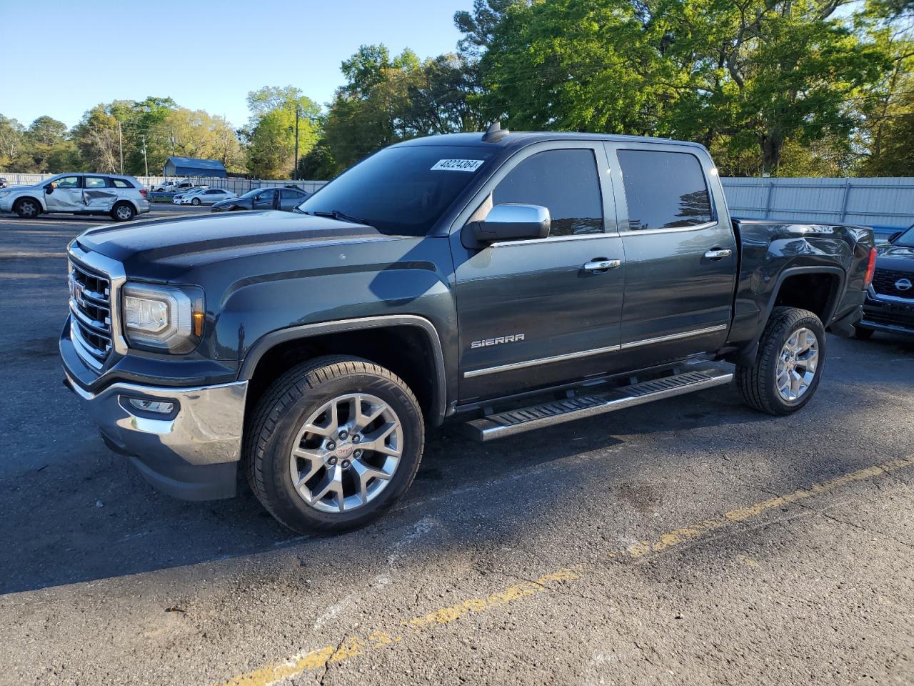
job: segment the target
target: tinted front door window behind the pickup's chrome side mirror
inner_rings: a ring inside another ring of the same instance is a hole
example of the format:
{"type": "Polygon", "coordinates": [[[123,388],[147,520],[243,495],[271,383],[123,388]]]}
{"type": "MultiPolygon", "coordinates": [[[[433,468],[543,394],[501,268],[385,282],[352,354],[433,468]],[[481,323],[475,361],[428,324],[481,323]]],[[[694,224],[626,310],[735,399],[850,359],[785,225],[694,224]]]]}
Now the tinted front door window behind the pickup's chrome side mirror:
{"type": "Polygon", "coordinates": [[[591,150],[547,150],[527,157],[495,187],[492,202],[548,208],[550,236],[603,230],[597,161],[591,150]]]}

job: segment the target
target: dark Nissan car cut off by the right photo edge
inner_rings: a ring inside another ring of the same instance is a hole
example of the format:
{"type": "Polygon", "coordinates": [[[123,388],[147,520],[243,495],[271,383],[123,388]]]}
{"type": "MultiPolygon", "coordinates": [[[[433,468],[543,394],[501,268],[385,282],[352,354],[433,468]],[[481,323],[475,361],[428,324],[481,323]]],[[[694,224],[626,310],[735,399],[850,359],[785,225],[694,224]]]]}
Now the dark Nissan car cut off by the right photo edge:
{"type": "Polygon", "coordinates": [[[856,337],[871,338],[875,331],[914,335],[914,226],[878,243],[877,251],[856,337]]]}

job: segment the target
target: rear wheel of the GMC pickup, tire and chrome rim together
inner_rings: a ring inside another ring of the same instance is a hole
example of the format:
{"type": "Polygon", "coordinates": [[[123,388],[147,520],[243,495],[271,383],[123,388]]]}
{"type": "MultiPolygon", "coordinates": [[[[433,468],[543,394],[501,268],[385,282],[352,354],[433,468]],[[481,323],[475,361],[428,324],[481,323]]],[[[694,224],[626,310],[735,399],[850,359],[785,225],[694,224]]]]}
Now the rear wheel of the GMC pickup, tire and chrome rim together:
{"type": "Polygon", "coordinates": [[[769,414],[795,413],[813,398],[825,364],[825,327],[808,310],[775,307],[751,365],[738,365],[743,402],[769,414]]]}

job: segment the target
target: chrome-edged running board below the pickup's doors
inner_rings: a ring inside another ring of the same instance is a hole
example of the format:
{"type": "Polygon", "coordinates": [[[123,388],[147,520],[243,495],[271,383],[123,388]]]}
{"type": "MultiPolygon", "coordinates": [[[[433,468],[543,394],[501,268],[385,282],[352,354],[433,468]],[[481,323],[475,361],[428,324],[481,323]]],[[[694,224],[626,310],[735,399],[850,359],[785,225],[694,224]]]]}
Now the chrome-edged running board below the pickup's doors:
{"type": "Polygon", "coordinates": [[[525,431],[540,429],[595,414],[611,413],[626,407],[642,405],[664,398],[673,398],[713,386],[722,386],[733,380],[733,374],[724,370],[696,370],[668,376],[654,381],[643,381],[622,386],[605,393],[590,393],[560,401],[544,402],[520,410],[489,414],[482,419],[468,422],[472,437],[484,443],[525,431]]]}

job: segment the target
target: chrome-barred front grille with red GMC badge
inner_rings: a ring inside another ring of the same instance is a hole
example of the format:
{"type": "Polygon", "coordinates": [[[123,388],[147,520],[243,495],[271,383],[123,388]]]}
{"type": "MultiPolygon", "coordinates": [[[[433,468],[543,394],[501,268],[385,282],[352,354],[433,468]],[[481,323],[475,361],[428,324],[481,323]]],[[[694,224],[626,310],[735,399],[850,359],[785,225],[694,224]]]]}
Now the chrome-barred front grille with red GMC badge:
{"type": "Polygon", "coordinates": [[[69,261],[70,331],[80,357],[99,368],[112,350],[112,304],[109,278],[69,261]]]}

